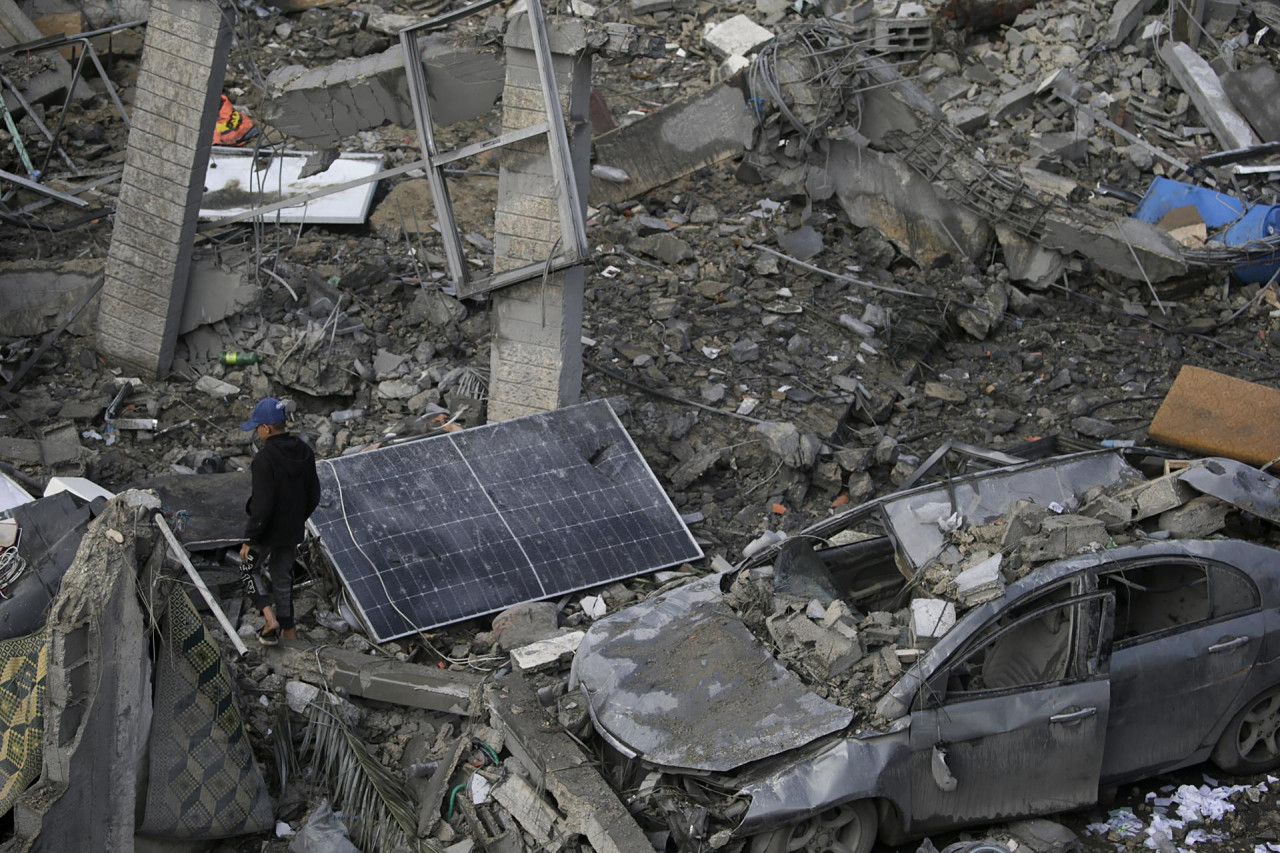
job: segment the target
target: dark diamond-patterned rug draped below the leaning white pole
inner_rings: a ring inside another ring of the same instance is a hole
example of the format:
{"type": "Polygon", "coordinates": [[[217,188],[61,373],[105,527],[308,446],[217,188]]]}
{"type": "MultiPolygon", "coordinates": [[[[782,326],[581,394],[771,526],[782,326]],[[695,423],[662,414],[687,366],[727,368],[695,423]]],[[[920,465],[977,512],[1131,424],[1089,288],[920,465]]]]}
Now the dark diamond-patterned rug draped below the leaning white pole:
{"type": "Polygon", "coordinates": [[[138,834],[209,839],[274,825],[221,654],[174,584],[156,654],[151,779],[138,834]]]}

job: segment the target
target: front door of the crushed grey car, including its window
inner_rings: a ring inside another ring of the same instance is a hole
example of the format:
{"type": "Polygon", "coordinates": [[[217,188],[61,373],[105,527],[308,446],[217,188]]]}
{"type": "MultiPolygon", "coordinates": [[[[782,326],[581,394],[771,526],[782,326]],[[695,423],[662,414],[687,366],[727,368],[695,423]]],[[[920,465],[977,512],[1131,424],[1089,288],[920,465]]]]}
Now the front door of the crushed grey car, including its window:
{"type": "Polygon", "coordinates": [[[1097,799],[1111,603],[1064,584],[998,615],[934,670],[911,713],[913,831],[1097,799]]]}

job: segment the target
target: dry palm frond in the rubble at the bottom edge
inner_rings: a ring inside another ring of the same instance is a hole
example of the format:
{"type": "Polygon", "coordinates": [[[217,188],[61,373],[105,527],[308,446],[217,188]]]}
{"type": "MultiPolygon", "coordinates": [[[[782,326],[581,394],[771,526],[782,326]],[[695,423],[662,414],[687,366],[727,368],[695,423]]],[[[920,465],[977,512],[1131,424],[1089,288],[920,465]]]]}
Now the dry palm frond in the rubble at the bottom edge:
{"type": "Polygon", "coordinates": [[[440,853],[434,841],[417,838],[417,812],[408,792],[333,711],[335,699],[321,690],[307,708],[302,753],[310,756],[316,777],[328,784],[334,809],[351,816],[356,844],[365,850],[440,853]]]}

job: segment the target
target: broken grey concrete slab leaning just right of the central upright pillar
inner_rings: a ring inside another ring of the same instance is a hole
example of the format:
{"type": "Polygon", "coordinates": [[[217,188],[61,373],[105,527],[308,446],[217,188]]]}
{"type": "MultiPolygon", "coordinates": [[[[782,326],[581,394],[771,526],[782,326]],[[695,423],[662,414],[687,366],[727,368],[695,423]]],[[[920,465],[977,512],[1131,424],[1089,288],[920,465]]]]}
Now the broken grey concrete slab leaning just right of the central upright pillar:
{"type": "Polygon", "coordinates": [[[639,122],[594,140],[595,161],[622,169],[626,183],[593,177],[593,205],[644,195],[686,174],[742,154],[755,138],[755,117],[740,88],[712,86],[639,122]]]}

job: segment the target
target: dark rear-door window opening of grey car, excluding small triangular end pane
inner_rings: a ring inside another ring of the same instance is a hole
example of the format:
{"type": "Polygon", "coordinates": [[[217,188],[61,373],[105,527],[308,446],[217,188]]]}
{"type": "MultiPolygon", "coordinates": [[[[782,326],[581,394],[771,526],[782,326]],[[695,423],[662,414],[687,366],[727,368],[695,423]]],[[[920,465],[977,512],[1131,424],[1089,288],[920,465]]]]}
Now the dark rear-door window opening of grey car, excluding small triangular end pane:
{"type": "Polygon", "coordinates": [[[1115,643],[1129,646],[1208,620],[1208,566],[1161,562],[1098,578],[1116,597],[1115,643]]]}

